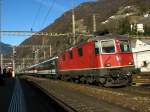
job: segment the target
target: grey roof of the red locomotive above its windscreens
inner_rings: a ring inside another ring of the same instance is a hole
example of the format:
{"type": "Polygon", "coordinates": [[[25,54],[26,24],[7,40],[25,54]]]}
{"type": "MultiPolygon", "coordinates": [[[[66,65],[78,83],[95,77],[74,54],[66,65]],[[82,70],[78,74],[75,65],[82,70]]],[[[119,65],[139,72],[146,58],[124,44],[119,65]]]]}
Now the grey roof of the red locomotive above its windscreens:
{"type": "Polygon", "coordinates": [[[103,35],[103,36],[96,36],[95,38],[91,38],[88,41],[93,41],[93,40],[106,40],[106,39],[114,39],[114,38],[119,38],[119,39],[127,39],[127,35],[118,35],[118,34],[108,34],[108,35],[103,35]]]}

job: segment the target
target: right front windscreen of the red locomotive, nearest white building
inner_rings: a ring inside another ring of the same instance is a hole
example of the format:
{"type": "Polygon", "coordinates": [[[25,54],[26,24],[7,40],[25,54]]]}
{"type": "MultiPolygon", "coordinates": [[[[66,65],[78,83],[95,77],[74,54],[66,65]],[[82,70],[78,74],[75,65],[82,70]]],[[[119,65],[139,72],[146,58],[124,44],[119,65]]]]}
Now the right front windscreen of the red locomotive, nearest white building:
{"type": "Polygon", "coordinates": [[[120,50],[121,50],[121,52],[130,52],[131,51],[128,40],[120,40],[120,50]]]}

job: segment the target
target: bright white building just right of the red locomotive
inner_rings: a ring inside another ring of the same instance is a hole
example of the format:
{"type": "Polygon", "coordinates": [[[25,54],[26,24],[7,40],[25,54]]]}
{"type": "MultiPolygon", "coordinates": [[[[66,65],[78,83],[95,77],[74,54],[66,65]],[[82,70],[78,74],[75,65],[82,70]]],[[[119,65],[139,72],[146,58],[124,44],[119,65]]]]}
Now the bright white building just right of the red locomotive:
{"type": "Polygon", "coordinates": [[[135,67],[141,72],[150,72],[150,37],[149,39],[131,40],[135,67]]]}

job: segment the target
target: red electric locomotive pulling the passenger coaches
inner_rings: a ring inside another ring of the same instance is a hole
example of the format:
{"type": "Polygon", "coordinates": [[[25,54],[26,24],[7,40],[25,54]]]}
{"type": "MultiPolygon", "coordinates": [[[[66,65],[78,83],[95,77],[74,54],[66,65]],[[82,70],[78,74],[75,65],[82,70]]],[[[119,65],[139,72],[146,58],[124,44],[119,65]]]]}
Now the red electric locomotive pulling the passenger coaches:
{"type": "Polygon", "coordinates": [[[127,36],[96,36],[70,48],[57,60],[61,78],[103,86],[121,86],[132,82],[133,54],[127,36]]]}

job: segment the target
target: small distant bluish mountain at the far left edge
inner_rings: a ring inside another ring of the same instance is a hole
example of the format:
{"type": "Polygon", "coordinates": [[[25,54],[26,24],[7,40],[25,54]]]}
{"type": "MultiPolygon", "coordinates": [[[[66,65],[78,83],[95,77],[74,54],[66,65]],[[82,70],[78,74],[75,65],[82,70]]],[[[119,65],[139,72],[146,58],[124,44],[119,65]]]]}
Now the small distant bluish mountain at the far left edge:
{"type": "Polygon", "coordinates": [[[2,53],[3,55],[12,54],[12,46],[9,44],[0,42],[0,53],[2,53]]]}

